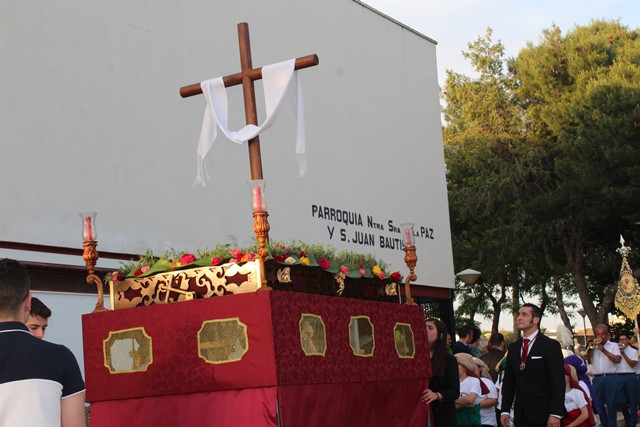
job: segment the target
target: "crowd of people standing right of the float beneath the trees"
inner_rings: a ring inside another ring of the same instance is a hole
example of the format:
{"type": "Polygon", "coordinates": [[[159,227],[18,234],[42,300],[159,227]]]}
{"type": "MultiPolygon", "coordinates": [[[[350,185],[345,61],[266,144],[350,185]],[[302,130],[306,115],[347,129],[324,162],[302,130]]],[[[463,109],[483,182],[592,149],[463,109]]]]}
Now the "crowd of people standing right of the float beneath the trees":
{"type": "MultiPolygon", "coordinates": [[[[638,422],[640,363],[633,336],[612,341],[597,325],[587,347],[562,350],[540,332],[540,309],[524,304],[517,315],[519,339],[505,349],[494,333],[486,346],[475,326],[458,329],[451,345],[446,325],[427,320],[433,378],[421,400],[428,427],[616,427],[638,422]]],[[[640,331],[636,329],[638,335],[640,331]]]]}

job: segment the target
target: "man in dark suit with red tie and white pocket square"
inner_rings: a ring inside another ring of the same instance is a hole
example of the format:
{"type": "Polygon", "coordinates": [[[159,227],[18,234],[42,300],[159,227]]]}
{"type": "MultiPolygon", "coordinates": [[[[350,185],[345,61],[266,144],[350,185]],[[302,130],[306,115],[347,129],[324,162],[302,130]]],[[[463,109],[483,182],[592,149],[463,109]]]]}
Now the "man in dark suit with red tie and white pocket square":
{"type": "Polygon", "coordinates": [[[517,427],[560,427],[564,409],[564,361],[560,343],[540,332],[540,308],[524,304],[516,325],[523,339],[509,346],[502,383],[500,424],[509,427],[513,405],[517,427]]]}

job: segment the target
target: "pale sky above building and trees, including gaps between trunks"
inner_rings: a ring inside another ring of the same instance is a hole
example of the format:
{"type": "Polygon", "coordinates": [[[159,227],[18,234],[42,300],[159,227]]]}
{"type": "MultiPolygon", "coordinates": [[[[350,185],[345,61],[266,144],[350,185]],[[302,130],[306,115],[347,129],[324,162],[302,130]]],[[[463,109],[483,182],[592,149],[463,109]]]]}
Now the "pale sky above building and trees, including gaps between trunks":
{"type": "MultiPolygon", "coordinates": [[[[576,25],[588,25],[593,19],[620,20],[630,29],[640,28],[638,0],[362,0],[374,9],[438,42],[436,59],[438,83],[444,85],[446,70],[474,76],[462,52],[468,43],[482,37],[487,27],[492,39],[500,41],[506,57],[517,56],[527,42],[537,44],[544,29],[556,25],[563,34],[576,25]]],[[[473,267],[471,267],[473,268],[473,267]]],[[[582,329],[583,319],[577,313],[570,316],[576,329],[582,329]]],[[[500,328],[512,329],[512,317],[503,312],[500,328]]],[[[557,316],[546,317],[542,326],[555,330],[561,323],[557,316]]],[[[591,327],[587,320],[587,327],[591,327]]],[[[481,328],[489,330],[485,319],[481,328]]]]}

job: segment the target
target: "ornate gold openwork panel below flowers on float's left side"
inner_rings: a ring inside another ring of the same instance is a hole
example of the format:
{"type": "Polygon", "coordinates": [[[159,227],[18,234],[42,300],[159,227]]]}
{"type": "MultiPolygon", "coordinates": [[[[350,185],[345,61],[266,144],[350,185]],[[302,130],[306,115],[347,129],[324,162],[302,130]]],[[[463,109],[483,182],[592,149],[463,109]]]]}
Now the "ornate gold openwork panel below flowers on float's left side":
{"type": "Polygon", "coordinates": [[[256,291],[261,284],[257,261],[158,273],[109,282],[113,309],[166,304],[195,298],[256,291]]]}

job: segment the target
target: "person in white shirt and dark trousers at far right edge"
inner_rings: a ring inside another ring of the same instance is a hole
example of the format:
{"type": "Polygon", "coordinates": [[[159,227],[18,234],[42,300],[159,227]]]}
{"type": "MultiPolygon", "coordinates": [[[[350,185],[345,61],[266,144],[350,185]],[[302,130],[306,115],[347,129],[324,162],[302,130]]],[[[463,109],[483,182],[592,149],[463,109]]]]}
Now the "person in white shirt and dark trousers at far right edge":
{"type": "Polygon", "coordinates": [[[631,347],[627,334],[620,334],[618,345],[622,356],[618,367],[621,387],[619,409],[624,416],[625,424],[635,426],[638,423],[638,381],[636,379],[638,350],[631,347]]]}

